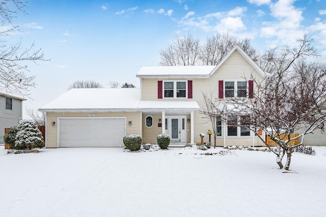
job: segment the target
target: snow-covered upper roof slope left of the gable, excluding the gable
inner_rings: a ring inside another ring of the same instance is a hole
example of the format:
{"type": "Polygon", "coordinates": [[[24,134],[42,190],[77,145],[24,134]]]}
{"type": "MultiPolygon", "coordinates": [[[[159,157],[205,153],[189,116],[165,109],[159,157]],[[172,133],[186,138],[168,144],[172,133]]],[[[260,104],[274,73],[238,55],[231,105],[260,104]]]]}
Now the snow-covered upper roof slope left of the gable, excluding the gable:
{"type": "Polygon", "coordinates": [[[144,66],[137,77],[202,77],[208,76],[215,66],[144,66]]]}

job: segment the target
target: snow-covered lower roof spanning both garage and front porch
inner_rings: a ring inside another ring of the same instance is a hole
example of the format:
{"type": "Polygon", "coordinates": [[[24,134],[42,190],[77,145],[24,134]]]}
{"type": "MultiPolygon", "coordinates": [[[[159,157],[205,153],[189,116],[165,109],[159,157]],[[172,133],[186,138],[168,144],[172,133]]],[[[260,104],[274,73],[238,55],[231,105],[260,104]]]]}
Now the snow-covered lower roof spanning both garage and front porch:
{"type": "Polygon", "coordinates": [[[199,110],[196,101],[141,101],[139,88],[71,89],[41,108],[45,112],[199,110]]]}

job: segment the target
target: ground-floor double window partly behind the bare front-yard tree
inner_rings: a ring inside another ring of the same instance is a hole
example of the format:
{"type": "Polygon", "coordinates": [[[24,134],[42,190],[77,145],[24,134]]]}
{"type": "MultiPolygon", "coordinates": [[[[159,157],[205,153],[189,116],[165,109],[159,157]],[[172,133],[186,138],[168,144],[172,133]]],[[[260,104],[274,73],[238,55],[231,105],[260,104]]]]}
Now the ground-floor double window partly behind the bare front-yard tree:
{"type": "Polygon", "coordinates": [[[227,123],[228,136],[250,137],[250,125],[246,123],[246,117],[228,116],[227,123]]]}

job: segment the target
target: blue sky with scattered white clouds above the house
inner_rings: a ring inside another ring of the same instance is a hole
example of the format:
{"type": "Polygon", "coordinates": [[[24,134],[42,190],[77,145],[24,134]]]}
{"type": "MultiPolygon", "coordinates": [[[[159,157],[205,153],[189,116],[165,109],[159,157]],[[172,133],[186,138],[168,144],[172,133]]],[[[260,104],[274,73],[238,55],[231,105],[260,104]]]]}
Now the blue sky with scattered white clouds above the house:
{"type": "MultiPolygon", "coordinates": [[[[159,63],[159,50],[176,35],[192,34],[202,43],[214,33],[251,38],[263,52],[292,45],[308,34],[326,60],[325,0],[239,1],[63,1],[30,0],[28,14],[15,21],[23,33],[7,38],[35,42],[48,62],[30,64],[37,75],[32,99],[24,107],[38,108],[66,91],[75,80],[133,83],[142,66],[159,63]]],[[[26,116],[24,116],[26,118],[26,116]]]]}

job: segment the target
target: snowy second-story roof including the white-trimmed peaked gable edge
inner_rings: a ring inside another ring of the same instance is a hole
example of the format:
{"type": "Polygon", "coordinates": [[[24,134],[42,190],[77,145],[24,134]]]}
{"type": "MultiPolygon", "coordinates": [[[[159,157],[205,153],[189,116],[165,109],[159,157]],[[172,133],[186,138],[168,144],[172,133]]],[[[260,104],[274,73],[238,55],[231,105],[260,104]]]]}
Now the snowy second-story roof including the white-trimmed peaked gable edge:
{"type": "Polygon", "coordinates": [[[240,55],[262,76],[268,76],[240,46],[234,46],[228,55],[217,66],[145,66],[136,77],[144,78],[209,78],[232,55],[234,51],[240,55]]]}

